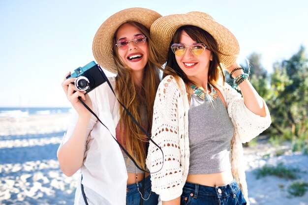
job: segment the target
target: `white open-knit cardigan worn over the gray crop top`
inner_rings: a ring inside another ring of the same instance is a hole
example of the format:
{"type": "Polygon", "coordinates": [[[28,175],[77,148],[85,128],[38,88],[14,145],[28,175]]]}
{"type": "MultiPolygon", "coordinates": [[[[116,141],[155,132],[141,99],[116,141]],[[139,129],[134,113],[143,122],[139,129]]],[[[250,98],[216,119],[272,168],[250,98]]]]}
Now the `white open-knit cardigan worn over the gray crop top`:
{"type": "MultiPolygon", "coordinates": [[[[266,117],[253,114],[246,108],[241,94],[227,83],[224,86],[216,85],[216,88],[226,101],[228,115],[235,128],[231,143],[232,174],[249,205],[242,143],[250,141],[270,126],[270,113],[264,102],[266,117]]],[[[161,151],[152,142],[150,142],[146,160],[151,173],[156,172],[151,174],[152,190],[159,194],[162,201],[180,197],[187,178],[188,110],[189,104],[183,80],[180,79],[178,85],[174,77],[166,76],[156,92],[152,125],[152,139],[161,147],[164,160],[161,151]],[[157,172],[160,168],[161,170],[157,172]]]]}

